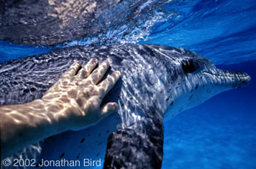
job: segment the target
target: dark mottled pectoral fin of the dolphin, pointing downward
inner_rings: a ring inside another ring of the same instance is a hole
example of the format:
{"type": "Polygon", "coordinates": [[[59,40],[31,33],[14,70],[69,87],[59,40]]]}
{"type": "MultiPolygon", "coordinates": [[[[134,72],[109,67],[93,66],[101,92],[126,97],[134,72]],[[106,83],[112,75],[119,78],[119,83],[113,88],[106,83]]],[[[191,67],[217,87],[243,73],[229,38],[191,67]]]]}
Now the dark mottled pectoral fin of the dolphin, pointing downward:
{"type": "Polygon", "coordinates": [[[109,136],[104,168],[161,168],[163,142],[163,117],[143,117],[109,136]]]}

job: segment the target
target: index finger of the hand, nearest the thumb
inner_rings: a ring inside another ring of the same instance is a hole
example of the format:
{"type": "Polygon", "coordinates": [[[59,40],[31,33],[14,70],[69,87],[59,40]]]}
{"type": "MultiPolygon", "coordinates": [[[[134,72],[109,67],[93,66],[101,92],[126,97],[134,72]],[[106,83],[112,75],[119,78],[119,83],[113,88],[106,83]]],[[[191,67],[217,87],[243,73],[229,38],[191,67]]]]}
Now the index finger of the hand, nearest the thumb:
{"type": "Polygon", "coordinates": [[[115,71],[113,74],[108,76],[104,81],[100,82],[98,84],[98,87],[100,90],[102,90],[102,93],[100,93],[99,98],[104,98],[105,95],[112,89],[112,87],[116,84],[118,79],[120,78],[121,73],[120,71],[115,71]]]}

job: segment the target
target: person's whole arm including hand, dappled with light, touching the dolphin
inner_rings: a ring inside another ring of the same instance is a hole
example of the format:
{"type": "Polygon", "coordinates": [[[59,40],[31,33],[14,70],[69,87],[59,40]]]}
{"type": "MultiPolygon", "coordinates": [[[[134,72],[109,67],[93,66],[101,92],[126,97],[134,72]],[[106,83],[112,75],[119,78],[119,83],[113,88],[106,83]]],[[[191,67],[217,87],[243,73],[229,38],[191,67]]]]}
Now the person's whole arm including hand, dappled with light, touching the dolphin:
{"type": "Polygon", "coordinates": [[[50,135],[89,127],[118,111],[117,103],[101,102],[118,81],[120,72],[115,71],[99,82],[110,63],[105,60],[94,70],[97,64],[96,59],[91,59],[81,68],[76,61],[42,99],[0,106],[1,157],[50,135]]]}

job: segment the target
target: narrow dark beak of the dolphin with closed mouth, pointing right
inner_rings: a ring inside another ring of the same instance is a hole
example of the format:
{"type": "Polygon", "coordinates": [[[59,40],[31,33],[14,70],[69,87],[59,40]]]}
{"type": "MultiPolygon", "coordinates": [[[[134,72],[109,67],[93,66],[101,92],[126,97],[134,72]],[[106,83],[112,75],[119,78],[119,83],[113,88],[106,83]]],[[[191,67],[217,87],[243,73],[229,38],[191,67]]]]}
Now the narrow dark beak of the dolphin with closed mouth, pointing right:
{"type": "Polygon", "coordinates": [[[225,71],[221,69],[217,69],[216,72],[209,72],[209,71],[203,71],[203,74],[208,74],[215,77],[224,77],[224,78],[230,78],[233,82],[241,83],[241,84],[248,84],[251,81],[251,77],[241,71],[225,71]]]}

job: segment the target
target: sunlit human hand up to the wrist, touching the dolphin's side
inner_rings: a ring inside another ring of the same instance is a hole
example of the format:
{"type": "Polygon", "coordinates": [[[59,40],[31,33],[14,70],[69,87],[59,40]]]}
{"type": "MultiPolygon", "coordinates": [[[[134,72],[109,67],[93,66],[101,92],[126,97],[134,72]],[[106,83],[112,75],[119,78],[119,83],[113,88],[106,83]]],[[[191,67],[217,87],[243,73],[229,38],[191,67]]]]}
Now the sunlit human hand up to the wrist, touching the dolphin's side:
{"type": "Polygon", "coordinates": [[[94,70],[96,66],[97,59],[91,59],[83,68],[76,61],[43,95],[42,101],[48,113],[51,112],[50,117],[57,121],[59,130],[80,130],[118,111],[117,103],[101,106],[101,102],[121,74],[115,71],[99,82],[110,63],[105,60],[94,70]]]}

